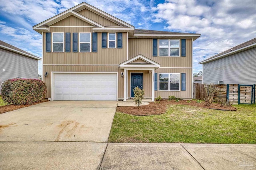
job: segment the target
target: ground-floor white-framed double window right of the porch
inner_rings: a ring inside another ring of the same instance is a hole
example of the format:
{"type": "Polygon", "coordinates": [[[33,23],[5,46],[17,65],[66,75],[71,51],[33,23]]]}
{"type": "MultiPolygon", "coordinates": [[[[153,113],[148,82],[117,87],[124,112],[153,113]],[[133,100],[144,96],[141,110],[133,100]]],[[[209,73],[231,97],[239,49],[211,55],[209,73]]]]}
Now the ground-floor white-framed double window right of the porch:
{"type": "Polygon", "coordinates": [[[180,91],[180,73],[160,73],[159,90],[180,91]]]}

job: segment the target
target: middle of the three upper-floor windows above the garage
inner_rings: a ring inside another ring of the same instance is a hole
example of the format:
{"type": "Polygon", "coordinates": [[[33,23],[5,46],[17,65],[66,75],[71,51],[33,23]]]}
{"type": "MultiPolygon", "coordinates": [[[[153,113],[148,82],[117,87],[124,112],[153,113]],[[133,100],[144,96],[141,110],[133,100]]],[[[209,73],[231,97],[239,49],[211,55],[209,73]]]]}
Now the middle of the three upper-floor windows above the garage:
{"type": "Polygon", "coordinates": [[[91,33],[79,33],[79,52],[91,52],[91,33]]]}

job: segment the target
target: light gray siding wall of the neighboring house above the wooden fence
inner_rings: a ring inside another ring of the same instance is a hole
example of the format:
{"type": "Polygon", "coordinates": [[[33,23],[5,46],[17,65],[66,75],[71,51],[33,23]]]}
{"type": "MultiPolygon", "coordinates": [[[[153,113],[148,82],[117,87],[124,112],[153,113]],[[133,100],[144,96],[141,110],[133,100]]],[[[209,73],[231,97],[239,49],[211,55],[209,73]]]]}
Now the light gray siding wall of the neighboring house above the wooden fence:
{"type": "Polygon", "coordinates": [[[256,84],[256,47],[203,64],[203,83],[256,84]]]}

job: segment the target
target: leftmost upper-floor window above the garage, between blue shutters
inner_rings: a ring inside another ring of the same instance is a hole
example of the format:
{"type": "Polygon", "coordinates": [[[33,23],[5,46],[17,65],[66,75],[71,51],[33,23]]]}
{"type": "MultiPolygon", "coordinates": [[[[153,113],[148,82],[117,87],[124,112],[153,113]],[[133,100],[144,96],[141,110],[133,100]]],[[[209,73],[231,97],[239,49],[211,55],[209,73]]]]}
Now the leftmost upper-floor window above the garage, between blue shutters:
{"type": "Polygon", "coordinates": [[[52,51],[64,52],[64,33],[52,33],[52,51]]]}

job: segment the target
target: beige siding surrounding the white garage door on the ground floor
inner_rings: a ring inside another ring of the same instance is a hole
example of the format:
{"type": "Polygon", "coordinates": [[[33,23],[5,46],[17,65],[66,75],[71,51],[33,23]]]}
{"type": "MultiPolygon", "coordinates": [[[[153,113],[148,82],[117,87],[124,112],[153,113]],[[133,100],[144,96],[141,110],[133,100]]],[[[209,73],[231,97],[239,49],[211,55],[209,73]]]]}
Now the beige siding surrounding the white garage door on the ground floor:
{"type": "MultiPolygon", "coordinates": [[[[43,66],[44,72],[49,72],[43,80],[47,86],[47,98],[51,98],[51,72],[118,72],[118,98],[124,98],[124,78],[118,66],[43,66]]],[[[43,72],[43,73],[44,73],[43,72]]]]}

